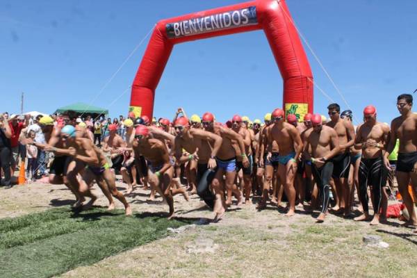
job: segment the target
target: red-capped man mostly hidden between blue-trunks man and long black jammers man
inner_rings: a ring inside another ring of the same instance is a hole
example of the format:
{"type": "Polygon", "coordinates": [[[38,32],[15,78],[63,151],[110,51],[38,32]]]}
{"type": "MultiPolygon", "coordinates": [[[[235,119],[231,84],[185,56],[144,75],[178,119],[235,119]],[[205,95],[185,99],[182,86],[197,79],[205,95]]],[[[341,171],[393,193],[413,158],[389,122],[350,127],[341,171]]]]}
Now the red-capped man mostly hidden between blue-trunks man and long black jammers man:
{"type": "MultiPolygon", "coordinates": [[[[295,116],[294,114],[288,114],[287,122],[288,124],[292,124],[293,126],[295,126],[297,131],[300,133],[300,137],[301,134],[304,133],[304,131],[306,131],[307,129],[307,126],[304,125],[304,122],[299,123],[297,121],[297,116],[295,116]]],[[[304,161],[302,161],[302,156],[300,156],[299,161],[297,161],[297,175],[295,176],[294,186],[297,204],[301,206],[304,203],[304,199],[306,196],[306,183],[304,182],[305,180],[302,177],[304,174],[304,169],[305,163],[304,161]]]]}

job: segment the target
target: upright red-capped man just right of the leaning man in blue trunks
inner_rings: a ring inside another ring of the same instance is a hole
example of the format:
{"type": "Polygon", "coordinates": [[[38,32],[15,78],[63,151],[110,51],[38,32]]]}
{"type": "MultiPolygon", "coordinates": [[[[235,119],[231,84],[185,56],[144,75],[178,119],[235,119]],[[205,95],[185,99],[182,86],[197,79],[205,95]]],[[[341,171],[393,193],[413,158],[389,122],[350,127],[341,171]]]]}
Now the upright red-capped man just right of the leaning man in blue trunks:
{"type": "MultiPolygon", "coordinates": [[[[242,117],[240,117],[240,115],[234,115],[231,120],[231,129],[242,136],[243,143],[245,144],[245,154],[247,155],[247,159],[249,161],[249,167],[243,166],[240,148],[237,141],[233,140],[234,148],[236,149],[236,172],[239,172],[240,169],[243,171],[243,183],[245,184],[245,204],[251,204],[252,202],[250,202],[250,191],[252,190],[252,136],[250,131],[243,127],[242,122],[242,117]]],[[[227,192],[226,204],[231,204],[231,191],[227,192]]]]}

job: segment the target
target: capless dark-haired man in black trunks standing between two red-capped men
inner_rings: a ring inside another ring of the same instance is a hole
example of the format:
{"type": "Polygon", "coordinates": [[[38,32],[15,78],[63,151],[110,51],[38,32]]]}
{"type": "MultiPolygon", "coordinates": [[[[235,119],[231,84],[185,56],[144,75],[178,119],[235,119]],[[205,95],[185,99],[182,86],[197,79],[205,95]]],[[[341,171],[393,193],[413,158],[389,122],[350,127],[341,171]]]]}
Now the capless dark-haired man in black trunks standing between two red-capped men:
{"type": "Polygon", "coordinates": [[[350,153],[349,149],[354,144],[354,127],[340,117],[341,107],[338,104],[327,106],[330,122],[327,126],[332,127],[338,134],[340,154],[333,158],[333,179],[336,185],[336,195],[340,204],[336,204],[336,213],[343,213],[345,217],[350,215],[350,195],[352,185],[349,185],[350,153]]]}

